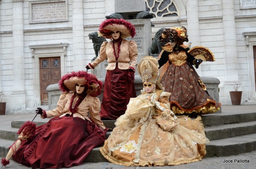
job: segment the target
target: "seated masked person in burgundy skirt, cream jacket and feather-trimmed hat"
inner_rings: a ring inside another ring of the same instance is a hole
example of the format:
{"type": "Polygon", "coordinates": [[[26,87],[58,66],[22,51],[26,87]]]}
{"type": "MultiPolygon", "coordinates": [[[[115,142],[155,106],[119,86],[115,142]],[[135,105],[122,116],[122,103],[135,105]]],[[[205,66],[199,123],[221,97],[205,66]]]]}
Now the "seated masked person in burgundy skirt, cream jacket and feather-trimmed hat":
{"type": "Polygon", "coordinates": [[[33,139],[23,140],[13,160],[35,168],[81,165],[90,151],[105,141],[106,128],[100,119],[98,96],[102,82],[84,71],[61,77],[63,93],[54,110],[37,109],[41,118],[51,118],[36,127],[33,139]],[[90,117],[89,117],[90,116],[90,117]]]}

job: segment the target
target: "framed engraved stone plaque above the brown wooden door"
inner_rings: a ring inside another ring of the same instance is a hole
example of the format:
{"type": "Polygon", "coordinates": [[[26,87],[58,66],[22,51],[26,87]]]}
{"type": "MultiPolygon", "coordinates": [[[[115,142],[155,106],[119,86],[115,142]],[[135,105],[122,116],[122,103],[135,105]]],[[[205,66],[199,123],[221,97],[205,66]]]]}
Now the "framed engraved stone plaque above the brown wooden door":
{"type": "Polygon", "coordinates": [[[52,23],[68,21],[67,0],[30,2],[29,23],[52,23]]]}

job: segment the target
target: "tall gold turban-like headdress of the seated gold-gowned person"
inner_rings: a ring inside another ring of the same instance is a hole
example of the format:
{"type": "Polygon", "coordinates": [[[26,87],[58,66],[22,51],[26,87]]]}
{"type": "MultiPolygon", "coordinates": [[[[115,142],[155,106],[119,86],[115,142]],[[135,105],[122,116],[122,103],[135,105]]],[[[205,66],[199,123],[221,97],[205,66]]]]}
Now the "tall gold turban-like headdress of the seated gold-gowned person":
{"type": "Polygon", "coordinates": [[[151,82],[156,84],[157,89],[163,90],[162,85],[157,81],[158,76],[158,60],[153,56],[145,56],[138,64],[138,72],[142,82],[151,82]]]}

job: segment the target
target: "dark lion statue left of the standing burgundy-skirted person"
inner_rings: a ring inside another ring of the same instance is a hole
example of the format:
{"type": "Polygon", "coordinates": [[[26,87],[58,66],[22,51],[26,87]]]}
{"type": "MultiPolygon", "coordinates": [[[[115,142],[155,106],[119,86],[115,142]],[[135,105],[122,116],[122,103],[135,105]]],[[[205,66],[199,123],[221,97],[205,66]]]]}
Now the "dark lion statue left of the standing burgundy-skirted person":
{"type": "Polygon", "coordinates": [[[93,49],[95,52],[95,57],[92,59],[95,60],[99,56],[99,50],[104,41],[107,41],[104,37],[99,37],[98,32],[93,32],[88,34],[89,39],[93,41],[93,49]]]}

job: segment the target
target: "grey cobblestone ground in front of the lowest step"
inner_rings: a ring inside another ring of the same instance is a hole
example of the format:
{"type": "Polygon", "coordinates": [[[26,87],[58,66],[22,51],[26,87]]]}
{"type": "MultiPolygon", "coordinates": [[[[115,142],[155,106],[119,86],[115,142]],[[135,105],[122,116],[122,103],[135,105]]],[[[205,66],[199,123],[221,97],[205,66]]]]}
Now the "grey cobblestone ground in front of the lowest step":
{"type": "MultiPolygon", "coordinates": [[[[204,158],[202,161],[182,164],[179,166],[155,166],[155,167],[125,167],[112,163],[83,163],[69,169],[256,169],[256,151],[226,157],[204,158]],[[223,161],[226,161],[224,163],[223,161]]],[[[2,169],[31,169],[19,163],[11,161],[2,169]]]]}

